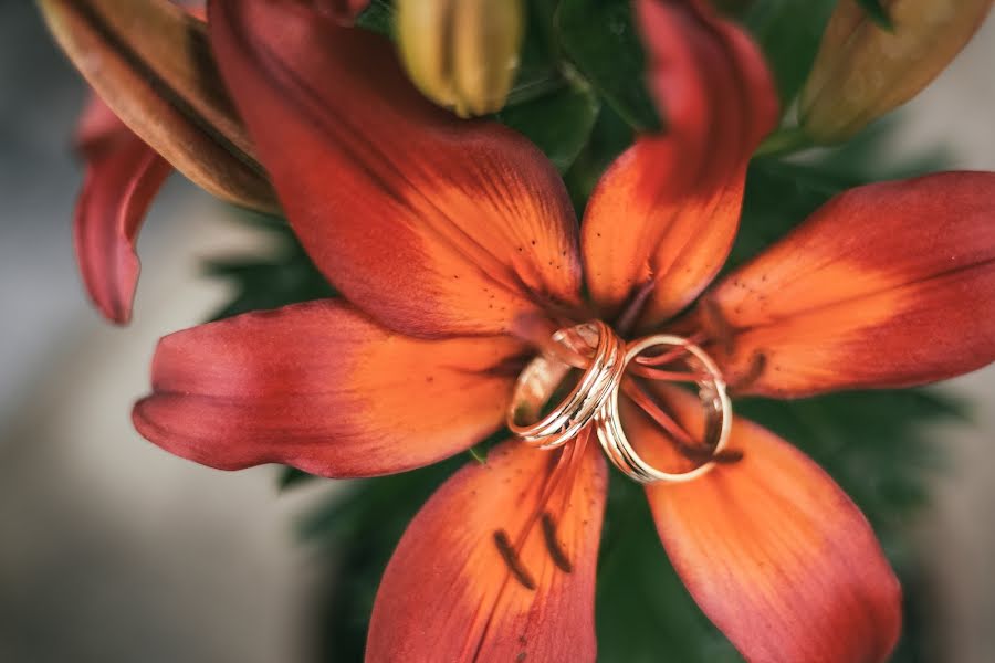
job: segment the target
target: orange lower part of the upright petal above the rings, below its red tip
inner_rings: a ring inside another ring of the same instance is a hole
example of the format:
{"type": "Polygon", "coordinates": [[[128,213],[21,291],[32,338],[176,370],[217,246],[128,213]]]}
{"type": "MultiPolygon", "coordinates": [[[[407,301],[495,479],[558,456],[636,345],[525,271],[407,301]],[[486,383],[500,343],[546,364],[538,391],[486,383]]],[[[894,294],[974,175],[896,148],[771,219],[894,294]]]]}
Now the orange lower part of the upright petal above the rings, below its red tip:
{"type": "Polygon", "coordinates": [[[642,144],[622,154],[598,182],[583,225],[591,298],[608,319],[626,308],[638,311],[632,322],[641,328],[684,308],[715,276],[735,238],[743,202],[745,170],[694,196],[641,196],[641,178],[661,166],[659,156],[642,144]]]}

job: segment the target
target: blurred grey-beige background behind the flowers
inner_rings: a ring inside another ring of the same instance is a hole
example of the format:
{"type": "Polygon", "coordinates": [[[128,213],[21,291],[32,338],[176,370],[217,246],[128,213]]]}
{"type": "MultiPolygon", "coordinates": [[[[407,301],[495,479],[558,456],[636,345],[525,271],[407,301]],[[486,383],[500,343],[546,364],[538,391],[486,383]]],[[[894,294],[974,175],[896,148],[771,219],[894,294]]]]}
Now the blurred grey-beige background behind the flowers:
{"type": "MultiPolygon", "coordinates": [[[[894,157],[944,145],[957,167],[995,170],[993,62],[989,20],[903,112],[894,157]]],[[[193,465],[142,440],[128,414],[157,338],[227,298],[201,260],[261,239],[174,177],[139,244],[135,323],[104,324],[70,232],[84,94],[33,3],[0,0],[0,661],[310,661],[327,578],[294,520],[327,484],[280,493],[276,469],[193,465]]],[[[947,454],[915,524],[921,618],[929,661],[987,663],[995,369],[944,389],[971,400],[973,423],[935,427],[947,454]]]]}

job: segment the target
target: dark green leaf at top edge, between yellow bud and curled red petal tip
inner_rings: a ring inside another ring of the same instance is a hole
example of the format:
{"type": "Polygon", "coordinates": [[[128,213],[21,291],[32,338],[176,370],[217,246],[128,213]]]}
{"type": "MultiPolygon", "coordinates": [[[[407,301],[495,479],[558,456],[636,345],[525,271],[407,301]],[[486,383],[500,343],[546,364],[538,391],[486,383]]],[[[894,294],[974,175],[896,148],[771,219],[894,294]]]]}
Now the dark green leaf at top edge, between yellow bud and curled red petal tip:
{"type": "Polygon", "coordinates": [[[591,86],[637,131],[659,131],[646,85],[646,55],[629,0],[563,0],[559,43],[591,86]]]}

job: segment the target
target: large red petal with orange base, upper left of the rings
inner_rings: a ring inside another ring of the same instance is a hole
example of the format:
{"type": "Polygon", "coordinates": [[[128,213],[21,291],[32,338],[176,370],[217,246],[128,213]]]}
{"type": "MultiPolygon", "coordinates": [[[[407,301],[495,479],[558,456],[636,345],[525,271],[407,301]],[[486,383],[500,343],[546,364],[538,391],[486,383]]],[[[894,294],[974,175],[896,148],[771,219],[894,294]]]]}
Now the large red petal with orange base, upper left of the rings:
{"type": "Polygon", "coordinates": [[[525,138],[436,108],[388,41],[297,2],[219,0],[210,25],[294,230],[350,301],[419,336],[576,305],[566,190],[525,138]]]}

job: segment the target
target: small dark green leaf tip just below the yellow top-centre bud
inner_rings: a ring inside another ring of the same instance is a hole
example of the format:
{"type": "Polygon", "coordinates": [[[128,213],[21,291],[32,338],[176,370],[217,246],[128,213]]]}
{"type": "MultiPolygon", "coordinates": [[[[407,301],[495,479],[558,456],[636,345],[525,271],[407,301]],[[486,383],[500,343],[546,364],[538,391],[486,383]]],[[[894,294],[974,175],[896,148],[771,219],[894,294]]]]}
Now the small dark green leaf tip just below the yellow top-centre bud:
{"type": "Polygon", "coordinates": [[[590,136],[598,101],[583,83],[527,103],[509,106],[498,119],[525,135],[565,172],[590,136]]]}

